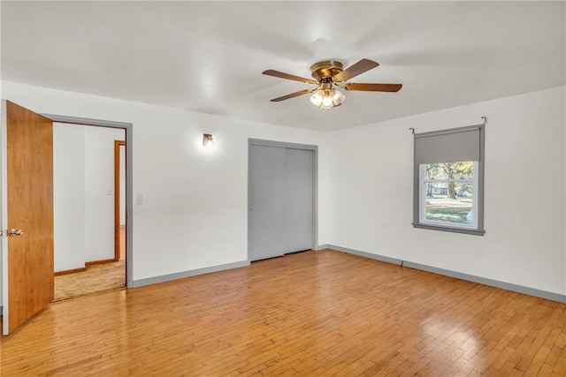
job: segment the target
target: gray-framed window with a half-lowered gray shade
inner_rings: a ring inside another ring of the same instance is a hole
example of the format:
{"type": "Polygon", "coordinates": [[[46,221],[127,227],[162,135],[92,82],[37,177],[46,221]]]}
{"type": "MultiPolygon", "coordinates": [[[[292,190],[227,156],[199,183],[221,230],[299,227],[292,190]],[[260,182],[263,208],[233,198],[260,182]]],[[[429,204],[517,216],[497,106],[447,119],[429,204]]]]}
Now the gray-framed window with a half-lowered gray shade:
{"type": "Polygon", "coordinates": [[[484,125],[415,134],[413,226],[483,235],[484,125]]]}

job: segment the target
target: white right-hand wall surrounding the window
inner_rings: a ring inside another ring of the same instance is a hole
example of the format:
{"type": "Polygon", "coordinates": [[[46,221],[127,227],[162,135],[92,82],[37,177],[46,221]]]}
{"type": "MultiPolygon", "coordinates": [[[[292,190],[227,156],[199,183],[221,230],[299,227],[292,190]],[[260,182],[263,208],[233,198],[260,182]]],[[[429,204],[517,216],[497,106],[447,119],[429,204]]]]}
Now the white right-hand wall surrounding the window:
{"type": "Polygon", "coordinates": [[[565,87],[326,135],[325,243],[566,293],[565,87]],[[484,237],[413,229],[409,127],[486,125],[484,237]]]}

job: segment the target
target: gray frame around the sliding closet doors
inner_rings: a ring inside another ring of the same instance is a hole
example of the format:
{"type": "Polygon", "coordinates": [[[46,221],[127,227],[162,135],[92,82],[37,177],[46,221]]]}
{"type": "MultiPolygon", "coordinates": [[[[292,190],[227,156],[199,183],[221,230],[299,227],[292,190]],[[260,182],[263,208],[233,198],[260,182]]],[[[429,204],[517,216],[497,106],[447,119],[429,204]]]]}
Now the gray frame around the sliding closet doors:
{"type": "Polygon", "coordinates": [[[250,216],[249,216],[249,205],[251,203],[251,163],[250,163],[250,149],[252,146],[263,146],[263,147],[283,147],[283,148],[291,148],[291,149],[305,149],[313,151],[315,157],[315,169],[313,172],[314,175],[314,187],[313,187],[313,198],[312,198],[312,241],[311,241],[311,249],[317,250],[317,242],[318,242],[318,146],[313,146],[309,144],[297,144],[297,143],[289,143],[285,141],[273,141],[273,140],[265,140],[265,139],[248,139],[248,261],[249,261],[249,245],[250,245],[250,236],[251,236],[251,223],[250,223],[250,216]]]}

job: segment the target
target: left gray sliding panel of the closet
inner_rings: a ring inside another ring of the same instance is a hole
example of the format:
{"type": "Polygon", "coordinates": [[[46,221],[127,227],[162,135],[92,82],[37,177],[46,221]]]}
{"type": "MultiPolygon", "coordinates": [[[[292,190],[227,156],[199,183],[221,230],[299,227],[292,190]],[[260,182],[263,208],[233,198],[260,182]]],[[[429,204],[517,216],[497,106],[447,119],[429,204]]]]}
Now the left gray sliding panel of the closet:
{"type": "Polygon", "coordinates": [[[285,253],[285,148],[249,146],[249,260],[285,253]]]}

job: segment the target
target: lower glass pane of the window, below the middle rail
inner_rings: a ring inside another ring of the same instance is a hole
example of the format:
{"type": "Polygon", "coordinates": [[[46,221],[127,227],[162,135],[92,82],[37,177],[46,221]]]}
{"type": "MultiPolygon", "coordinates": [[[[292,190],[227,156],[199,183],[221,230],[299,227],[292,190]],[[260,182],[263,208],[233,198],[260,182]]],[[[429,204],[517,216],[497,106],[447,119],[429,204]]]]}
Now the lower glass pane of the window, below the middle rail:
{"type": "Polygon", "coordinates": [[[472,223],[473,185],[471,181],[426,183],[426,214],[429,221],[472,223]]]}

